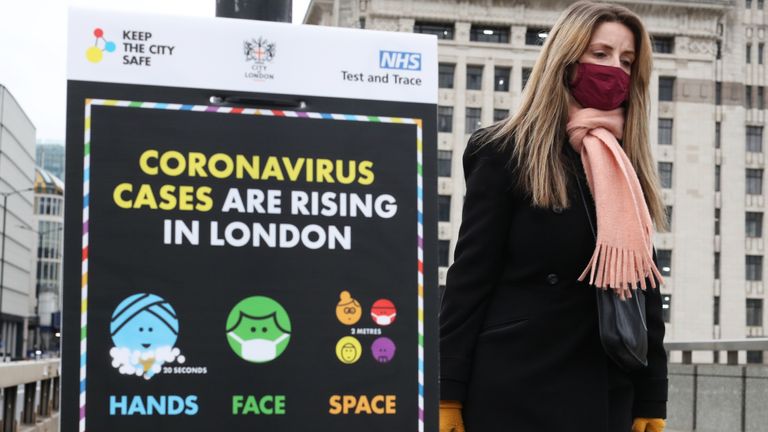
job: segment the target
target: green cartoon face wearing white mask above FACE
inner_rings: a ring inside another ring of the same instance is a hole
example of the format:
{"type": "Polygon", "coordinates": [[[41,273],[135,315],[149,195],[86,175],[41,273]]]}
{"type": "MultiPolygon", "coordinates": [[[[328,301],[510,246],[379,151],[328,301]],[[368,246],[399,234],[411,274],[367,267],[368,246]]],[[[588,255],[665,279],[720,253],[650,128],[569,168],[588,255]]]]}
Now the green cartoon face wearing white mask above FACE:
{"type": "Polygon", "coordinates": [[[291,337],[291,320],[280,303],[269,297],[248,297],[227,318],[227,342],[243,360],[267,363],[279,357],[291,337]]]}

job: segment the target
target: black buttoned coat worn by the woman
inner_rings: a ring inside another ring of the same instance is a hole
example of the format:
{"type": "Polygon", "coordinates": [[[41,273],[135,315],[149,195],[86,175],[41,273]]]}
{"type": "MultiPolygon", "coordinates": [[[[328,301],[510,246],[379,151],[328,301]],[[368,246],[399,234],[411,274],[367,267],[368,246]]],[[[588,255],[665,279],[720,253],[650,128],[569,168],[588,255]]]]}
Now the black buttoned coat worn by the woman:
{"type": "Polygon", "coordinates": [[[600,343],[595,288],[577,281],[595,239],[576,175],[597,220],[578,154],[566,142],[570,207],[534,208],[509,150],[478,141],[476,132],[464,153],[463,220],[442,298],[441,399],[464,403],[467,432],[629,432],[634,417],[665,418],[659,290],[645,293],[649,365],[628,374],[600,343]]]}

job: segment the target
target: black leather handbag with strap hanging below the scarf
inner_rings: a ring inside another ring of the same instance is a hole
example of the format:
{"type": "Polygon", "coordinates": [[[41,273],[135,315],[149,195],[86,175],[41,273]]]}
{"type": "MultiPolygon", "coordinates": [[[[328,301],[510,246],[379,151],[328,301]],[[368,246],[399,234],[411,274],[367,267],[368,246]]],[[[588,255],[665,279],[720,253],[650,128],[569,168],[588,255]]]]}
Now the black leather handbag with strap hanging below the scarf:
{"type": "MultiPolygon", "coordinates": [[[[576,175],[579,195],[587,212],[589,227],[597,241],[592,216],[576,175]]],[[[612,289],[595,287],[600,340],[608,357],[625,372],[648,366],[648,326],[645,319],[645,292],[637,289],[632,298],[621,300],[612,289]]]]}

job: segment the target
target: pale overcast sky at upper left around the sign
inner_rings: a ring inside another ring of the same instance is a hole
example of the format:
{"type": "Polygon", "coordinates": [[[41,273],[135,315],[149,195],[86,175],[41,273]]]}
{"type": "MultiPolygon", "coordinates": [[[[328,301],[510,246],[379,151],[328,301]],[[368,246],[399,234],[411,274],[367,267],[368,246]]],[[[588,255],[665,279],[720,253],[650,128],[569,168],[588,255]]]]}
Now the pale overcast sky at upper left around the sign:
{"type": "MultiPolygon", "coordinates": [[[[261,1],[261,0],[255,0],[261,1]]],[[[293,0],[293,22],[309,0],[293,0]]],[[[0,85],[34,123],[38,141],[64,142],[70,7],[210,16],[216,0],[0,0],[0,85]]]]}

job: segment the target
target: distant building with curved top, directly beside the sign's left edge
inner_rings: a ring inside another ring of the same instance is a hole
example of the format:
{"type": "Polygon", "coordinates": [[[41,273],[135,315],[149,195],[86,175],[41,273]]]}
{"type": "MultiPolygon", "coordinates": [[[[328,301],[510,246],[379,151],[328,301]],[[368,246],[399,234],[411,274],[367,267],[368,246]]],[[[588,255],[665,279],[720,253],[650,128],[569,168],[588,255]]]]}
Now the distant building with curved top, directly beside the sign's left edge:
{"type": "Polygon", "coordinates": [[[59,350],[64,243],[64,182],[50,172],[35,172],[37,220],[37,318],[38,331],[31,349],[59,350]]]}

